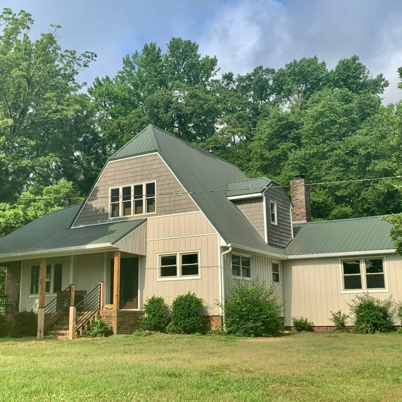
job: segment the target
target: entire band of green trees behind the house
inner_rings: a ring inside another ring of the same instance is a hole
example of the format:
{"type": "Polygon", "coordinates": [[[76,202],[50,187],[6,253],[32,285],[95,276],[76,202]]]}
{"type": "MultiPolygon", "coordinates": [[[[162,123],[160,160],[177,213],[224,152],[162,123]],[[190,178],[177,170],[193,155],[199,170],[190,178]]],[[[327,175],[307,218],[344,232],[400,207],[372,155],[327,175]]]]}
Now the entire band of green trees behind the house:
{"type": "MultiPolygon", "coordinates": [[[[388,82],[357,55],[333,69],[311,57],[236,75],[172,38],[133,49],[114,77],[86,87],[79,73],[96,55],[62,49],[57,25],[32,38],[33,24],[25,11],[0,14],[0,236],[85,196],[149,123],[284,185],[297,173],[319,183],[399,169],[402,106],[382,104],[388,82]]],[[[313,218],[399,212],[397,183],[314,185],[313,218]]]]}

